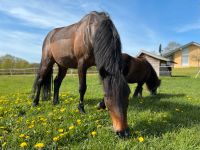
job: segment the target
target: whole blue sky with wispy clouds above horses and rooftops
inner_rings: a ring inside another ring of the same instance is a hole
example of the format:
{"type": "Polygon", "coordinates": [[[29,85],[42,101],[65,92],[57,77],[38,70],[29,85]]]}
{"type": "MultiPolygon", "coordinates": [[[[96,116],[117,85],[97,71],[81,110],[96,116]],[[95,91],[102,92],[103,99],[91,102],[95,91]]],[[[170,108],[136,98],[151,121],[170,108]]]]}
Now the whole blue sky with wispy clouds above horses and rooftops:
{"type": "Polygon", "coordinates": [[[0,56],[40,62],[47,33],[92,10],[110,14],[131,55],[170,41],[200,42],[200,0],[0,0],[0,56]]]}

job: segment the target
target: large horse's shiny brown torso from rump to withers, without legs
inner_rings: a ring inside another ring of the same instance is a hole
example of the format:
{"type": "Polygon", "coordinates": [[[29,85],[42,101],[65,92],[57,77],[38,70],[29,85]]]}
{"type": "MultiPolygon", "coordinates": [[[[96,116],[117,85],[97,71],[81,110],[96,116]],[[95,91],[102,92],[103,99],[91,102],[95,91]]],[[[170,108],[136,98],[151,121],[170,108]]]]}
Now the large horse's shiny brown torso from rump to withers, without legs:
{"type": "Polygon", "coordinates": [[[95,65],[92,51],[95,27],[107,17],[104,12],[91,12],[75,24],[53,29],[44,41],[43,51],[50,51],[55,62],[67,68],[77,68],[79,60],[88,66],[95,65]]]}

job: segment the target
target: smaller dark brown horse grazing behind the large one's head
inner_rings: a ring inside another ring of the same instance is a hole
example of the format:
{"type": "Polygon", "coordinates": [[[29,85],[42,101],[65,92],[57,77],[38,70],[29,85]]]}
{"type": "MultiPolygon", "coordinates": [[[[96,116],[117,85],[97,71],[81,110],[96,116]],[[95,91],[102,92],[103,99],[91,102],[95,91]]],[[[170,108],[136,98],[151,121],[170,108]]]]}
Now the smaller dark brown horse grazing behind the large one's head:
{"type": "MultiPolygon", "coordinates": [[[[153,69],[152,65],[144,58],[134,58],[128,54],[122,54],[123,58],[123,74],[128,83],[137,83],[137,87],[133,96],[142,97],[142,86],[146,83],[148,90],[152,95],[156,95],[157,88],[161,84],[161,80],[153,69]]],[[[105,109],[104,101],[99,103],[98,109],[105,109]]]]}

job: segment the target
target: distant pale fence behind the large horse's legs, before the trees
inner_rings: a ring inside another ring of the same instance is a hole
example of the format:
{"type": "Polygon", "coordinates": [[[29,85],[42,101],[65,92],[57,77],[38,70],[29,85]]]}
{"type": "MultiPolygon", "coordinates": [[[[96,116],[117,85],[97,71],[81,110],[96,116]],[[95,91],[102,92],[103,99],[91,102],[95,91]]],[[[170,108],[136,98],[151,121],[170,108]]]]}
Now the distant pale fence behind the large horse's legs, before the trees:
{"type": "MultiPolygon", "coordinates": [[[[53,68],[54,73],[58,72],[58,68],[53,68]]],[[[9,69],[0,69],[0,75],[28,75],[36,74],[38,68],[9,68],[9,69]]],[[[87,73],[95,74],[97,71],[88,70],[87,73]]],[[[67,74],[77,74],[77,69],[68,69],[67,74]]]]}

